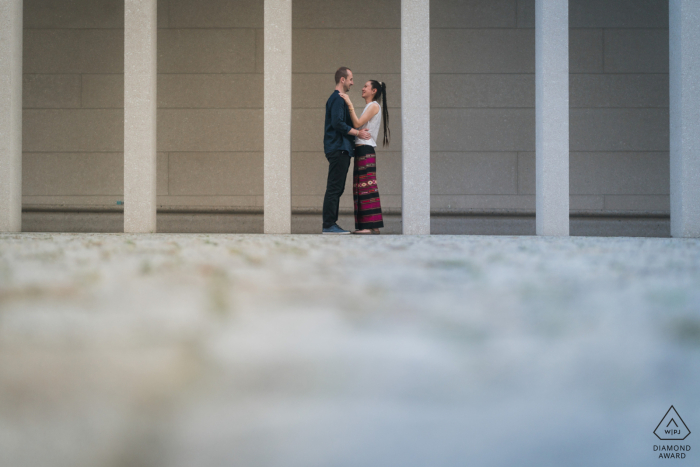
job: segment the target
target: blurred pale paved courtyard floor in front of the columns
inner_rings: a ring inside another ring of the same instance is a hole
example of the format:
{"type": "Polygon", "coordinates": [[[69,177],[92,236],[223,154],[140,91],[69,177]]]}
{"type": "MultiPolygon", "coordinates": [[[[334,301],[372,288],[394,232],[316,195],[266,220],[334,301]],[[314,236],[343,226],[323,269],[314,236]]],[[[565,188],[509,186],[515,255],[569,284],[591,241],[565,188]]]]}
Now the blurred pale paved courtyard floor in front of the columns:
{"type": "Polygon", "coordinates": [[[699,394],[699,240],[0,235],[2,466],[698,465],[699,394]]]}

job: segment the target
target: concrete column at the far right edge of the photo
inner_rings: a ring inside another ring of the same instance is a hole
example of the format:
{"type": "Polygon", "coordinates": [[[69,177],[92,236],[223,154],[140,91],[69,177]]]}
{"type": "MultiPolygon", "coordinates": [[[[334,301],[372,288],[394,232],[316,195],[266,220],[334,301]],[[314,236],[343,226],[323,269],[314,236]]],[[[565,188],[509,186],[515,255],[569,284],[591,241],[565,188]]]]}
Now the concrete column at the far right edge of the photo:
{"type": "Polygon", "coordinates": [[[700,237],[700,2],[670,0],[671,236],[700,237]]]}

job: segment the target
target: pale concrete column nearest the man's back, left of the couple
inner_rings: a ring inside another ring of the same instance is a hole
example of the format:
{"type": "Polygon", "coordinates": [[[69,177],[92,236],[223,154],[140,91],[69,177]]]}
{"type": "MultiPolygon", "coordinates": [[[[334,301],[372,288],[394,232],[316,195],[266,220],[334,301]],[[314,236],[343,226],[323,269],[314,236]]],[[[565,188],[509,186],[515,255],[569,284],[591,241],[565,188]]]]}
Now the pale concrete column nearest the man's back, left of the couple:
{"type": "Polygon", "coordinates": [[[292,232],[292,0],[265,0],[264,231],[292,232]]]}

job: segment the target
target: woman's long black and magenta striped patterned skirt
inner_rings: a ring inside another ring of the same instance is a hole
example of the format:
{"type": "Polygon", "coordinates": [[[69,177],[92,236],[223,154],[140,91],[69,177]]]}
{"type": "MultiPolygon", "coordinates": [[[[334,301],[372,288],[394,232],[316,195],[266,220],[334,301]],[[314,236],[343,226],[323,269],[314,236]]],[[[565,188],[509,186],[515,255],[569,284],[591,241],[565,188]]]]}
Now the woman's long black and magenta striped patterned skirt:
{"type": "Polygon", "coordinates": [[[357,230],[384,227],[382,205],[377,188],[377,156],[372,146],[355,147],[352,198],[355,203],[357,230]]]}

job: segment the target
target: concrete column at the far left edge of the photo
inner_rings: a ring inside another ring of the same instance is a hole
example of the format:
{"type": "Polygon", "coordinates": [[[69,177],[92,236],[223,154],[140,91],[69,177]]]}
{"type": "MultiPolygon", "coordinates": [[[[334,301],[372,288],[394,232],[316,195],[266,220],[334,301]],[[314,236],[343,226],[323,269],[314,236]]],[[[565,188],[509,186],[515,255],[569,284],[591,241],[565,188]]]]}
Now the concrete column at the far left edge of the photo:
{"type": "Polygon", "coordinates": [[[0,0],[0,232],[22,231],[22,0],[0,0]]]}

